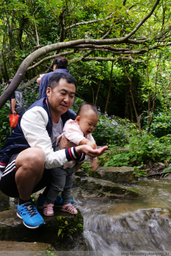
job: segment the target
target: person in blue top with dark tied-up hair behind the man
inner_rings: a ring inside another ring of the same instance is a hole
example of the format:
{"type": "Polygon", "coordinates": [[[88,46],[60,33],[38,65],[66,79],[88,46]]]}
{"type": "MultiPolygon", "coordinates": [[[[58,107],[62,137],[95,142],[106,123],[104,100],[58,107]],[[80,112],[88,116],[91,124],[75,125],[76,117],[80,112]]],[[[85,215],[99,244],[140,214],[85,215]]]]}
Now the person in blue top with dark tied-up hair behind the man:
{"type": "Polygon", "coordinates": [[[41,74],[37,79],[39,87],[39,97],[40,99],[46,97],[46,90],[48,88],[49,78],[56,73],[69,73],[67,69],[68,60],[64,57],[56,57],[53,61],[53,71],[47,74],[41,74]]]}

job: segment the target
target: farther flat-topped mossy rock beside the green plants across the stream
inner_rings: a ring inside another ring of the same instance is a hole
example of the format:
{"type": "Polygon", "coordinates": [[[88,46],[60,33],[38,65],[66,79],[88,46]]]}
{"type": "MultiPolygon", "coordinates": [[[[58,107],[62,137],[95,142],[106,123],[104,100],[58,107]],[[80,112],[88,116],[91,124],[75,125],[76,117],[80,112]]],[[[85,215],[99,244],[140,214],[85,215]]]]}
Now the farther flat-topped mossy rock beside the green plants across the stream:
{"type": "Polygon", "coordinates": [[[137,181],[132,167],[100,167],[94,172],[94,178],[109,180],[115,183],[137,181]]]}

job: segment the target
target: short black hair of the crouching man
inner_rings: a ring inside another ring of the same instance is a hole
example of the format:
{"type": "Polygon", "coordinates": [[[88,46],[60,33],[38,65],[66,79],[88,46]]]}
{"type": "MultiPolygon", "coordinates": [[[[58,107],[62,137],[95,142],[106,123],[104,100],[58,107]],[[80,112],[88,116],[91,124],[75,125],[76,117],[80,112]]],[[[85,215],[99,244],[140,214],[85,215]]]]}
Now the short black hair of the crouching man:
{"type": "Polygon", "coordinates": [[[71,76],[68,73],[55,73],[53,74],[50,78],[49,78],[49,82],[48,82],[48,87],[51,88],[51,90],[53,90],[56,87],[56,83],[57,85],[59,84],[60,79],[65,79],[68,84],[74,84],[75,88],[77,89],[77,83],[76,80],[73,76],[71,76]]]}

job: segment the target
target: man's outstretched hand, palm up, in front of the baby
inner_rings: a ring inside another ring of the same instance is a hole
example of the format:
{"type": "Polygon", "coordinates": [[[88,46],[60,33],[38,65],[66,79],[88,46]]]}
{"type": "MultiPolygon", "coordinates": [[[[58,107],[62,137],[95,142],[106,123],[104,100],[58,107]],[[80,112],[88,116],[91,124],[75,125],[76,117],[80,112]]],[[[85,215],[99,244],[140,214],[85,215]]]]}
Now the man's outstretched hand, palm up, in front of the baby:
{"type": "Polygon", "coordinates": [[[88,156],[94,158],[96,156],[100,156],[103,154],[103,152],[108,148],[108,146],[103,146],[100,149],[92,149],[91,146],[89,145],[80,145],[80,146],[76,146],[76,152],[77,154],[81,154],[81,153],[85,153],[88,156]]]}

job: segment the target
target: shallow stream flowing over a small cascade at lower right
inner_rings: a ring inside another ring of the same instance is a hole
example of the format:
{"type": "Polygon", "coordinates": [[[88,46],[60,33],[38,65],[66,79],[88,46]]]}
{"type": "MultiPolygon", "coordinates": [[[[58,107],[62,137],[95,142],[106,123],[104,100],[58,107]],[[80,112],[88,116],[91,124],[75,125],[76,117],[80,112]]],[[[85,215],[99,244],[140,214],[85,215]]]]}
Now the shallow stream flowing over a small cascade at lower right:
{"type": "Polygon", "coordinates": [[[139,188],[140,196],[94,200],[74,190],[89,251],[171,251],[171,180],[143,178],[126,185],[139,188]]]}

